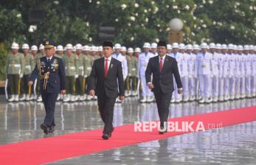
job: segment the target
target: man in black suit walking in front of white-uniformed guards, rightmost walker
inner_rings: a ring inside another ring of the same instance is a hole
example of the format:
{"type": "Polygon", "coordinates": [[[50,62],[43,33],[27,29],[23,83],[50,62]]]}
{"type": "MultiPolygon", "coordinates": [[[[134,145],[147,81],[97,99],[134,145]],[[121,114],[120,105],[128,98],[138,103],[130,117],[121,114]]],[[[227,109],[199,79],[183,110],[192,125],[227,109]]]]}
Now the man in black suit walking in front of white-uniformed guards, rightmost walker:
{"type": "Polygon", "coordinates": [[[175,58],[167,56],[167,43],[159,41],[157,44],[158,56],[151,57],[145,71],[148,88],[153,91],[160,119],[160,134],[167,132],[167,122],[169,116],[170,99],[174,91],[173,76],[175,77],[178,93],[182,94],[182,83],[179,76],[179,69],[175,58]],[[151,82],[151,74],[153,80],[151,82]]]}

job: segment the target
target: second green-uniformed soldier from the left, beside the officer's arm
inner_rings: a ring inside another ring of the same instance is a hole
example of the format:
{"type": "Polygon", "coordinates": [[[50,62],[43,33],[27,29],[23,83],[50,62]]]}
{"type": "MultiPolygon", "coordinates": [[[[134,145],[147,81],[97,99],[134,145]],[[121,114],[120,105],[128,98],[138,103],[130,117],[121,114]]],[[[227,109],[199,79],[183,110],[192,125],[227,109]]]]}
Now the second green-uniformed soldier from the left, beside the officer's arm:
{"type": "Polygon", "coordinates": [[[30,46],[27,43],[22,45],[23,55],[24,55],[24,75],[21,78],[21,98],[20,101],[30,100],[31,86],[28,83],[30,80],[30,74],[33,67],[32,55],[30,55],[30,46]]]}

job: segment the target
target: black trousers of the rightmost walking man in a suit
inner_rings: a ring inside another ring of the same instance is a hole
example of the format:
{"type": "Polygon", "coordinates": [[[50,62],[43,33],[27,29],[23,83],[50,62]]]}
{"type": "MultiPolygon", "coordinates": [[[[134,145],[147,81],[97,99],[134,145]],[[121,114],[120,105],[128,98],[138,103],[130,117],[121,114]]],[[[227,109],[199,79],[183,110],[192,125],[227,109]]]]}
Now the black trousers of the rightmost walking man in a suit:
{"type": "Polygon", "coordinates": [[[156,98],[156,105],[160,119],[160,126],[164,127],[164,122],[167,122],[169,116],[170,99],[172,94],[163,94],[162,91],[153,93],[156,98]]]}

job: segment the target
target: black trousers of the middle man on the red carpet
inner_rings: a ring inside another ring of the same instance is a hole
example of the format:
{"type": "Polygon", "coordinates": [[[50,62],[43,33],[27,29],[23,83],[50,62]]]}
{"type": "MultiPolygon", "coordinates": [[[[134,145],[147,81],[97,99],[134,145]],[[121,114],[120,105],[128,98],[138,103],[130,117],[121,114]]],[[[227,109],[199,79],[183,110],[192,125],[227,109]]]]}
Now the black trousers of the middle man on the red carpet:
{"type": "Polygon", "coordinates": [[[97,102],[100,111],[100,117],[104,122],[103,133],[111,134],[113,129],[113,115],[114,115],[114,103],[116,102],[116,97],[108,98],[105,94],[103,96],[97,96],[97,102]]]}

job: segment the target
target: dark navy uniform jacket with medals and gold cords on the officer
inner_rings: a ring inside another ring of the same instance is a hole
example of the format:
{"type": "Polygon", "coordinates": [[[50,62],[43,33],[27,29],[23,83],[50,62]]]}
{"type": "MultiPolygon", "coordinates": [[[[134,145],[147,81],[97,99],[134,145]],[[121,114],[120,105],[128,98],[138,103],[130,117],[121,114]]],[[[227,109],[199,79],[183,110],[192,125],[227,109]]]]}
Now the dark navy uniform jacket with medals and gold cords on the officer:
{"type": "Polygon", "coordinates": [[[44,91],[44,80],[40,81],[40,91],[46,93],[60,93],[60,90],[65,90],[65,69],[63,61],[55,56],[52,56],[52,59],[47,63],[46,57],[41,57],[39,61],[35,64],[35,69],[30,74],[30,80],[34,81],[38,78],[38,74],[44,75],[49,71],[49,80],[46,85],[46,91],[44,91]],[[38,70],[38,65],[40,70],[38,70]]]}

